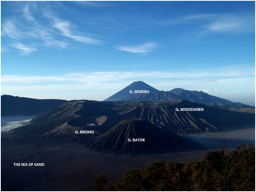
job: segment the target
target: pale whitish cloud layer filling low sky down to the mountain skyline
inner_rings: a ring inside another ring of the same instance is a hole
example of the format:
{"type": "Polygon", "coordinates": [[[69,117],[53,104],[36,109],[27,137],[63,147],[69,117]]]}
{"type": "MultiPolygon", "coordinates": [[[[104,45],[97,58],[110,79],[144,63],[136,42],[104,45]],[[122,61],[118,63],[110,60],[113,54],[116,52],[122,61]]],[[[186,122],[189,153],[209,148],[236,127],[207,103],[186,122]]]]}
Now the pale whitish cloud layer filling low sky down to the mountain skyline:
{"type": "MultiPolygon", "coordinates": [[[[232,95],[234,90],[240,90],[241,95],[243,95],[243,91],[247,90],[248,93],[248,89],[251,90],[251,95],[255,95],[255,68],[246,67],[246,65],[233,65],[222,69],[213,68],[206,71],[188,70],[186,72],[113,71],[72,73],[62,76],[2,75],[1,92],[2,94],[8,95],[23,95],[23,97],[28,97],[30,94],[40,95],[41,93],[44,94],[48,92],[53,94],[54,92],[59,95],[54,98],[60,99],[60,95],[62,95],[60,92],[67,93],[67,90],[72,90],[68,91],[69,93],[72,93],[70,99],[77,99],[74,97],[74,93],[76,93],[75,95],[80,94],[79,99],[103,100],[108,97],[108,93],[110,93],[109,95],[112,95],[120,89],[123,89],[123,87],[139,80],[142,80],[159,90],[165,91],[169,91],[175,87],[182,87],[184,89],[202,90],[204,92],[212,93],[209,92],[209,90],[216,91],[216,87],[218,87],[219,97],[221,97],[221,94],[225,95],[226,93],[232,95]],[[98,92],[98,95],[95,92],[98,92]],[[87,93],[90,93],[90,96],[87,93]],[[87,96],[85,96],[86,94],[87,96]]],[[[48,94],[47,98],[50,97],[51,95],[48,94]]],[[[41,95],[40,98],[44,97],[41,95]]]]}

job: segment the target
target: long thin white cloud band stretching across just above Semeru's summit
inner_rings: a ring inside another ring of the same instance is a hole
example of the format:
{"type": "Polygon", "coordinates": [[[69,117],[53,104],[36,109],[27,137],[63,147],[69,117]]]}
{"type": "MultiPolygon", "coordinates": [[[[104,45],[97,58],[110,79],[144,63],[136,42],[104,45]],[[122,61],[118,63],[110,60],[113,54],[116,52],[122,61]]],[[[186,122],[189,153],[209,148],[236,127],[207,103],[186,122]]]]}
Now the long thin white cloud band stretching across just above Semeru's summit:
{"type": "Polygon", "coordinates": [[[155,78],[155,79],[204,79],[205,82],[218,82],[219,79],[225,78],[244,78],[254,77],[255,68],[242,67],[242,66],[229,66],[223,69],[211,69],[211,70],[188,70],[186,72],[164,72],[164,71],[152,71],[152,72],[92,72],[92,73],[73,73],[65,74],[64,76],[21,76],[21,75],[2,75],[2,83],[38,83],[38,82],[80,82],[90,84],[90,82],[115,82],[119,80],[129,80],[137,78],[155,78]]]}

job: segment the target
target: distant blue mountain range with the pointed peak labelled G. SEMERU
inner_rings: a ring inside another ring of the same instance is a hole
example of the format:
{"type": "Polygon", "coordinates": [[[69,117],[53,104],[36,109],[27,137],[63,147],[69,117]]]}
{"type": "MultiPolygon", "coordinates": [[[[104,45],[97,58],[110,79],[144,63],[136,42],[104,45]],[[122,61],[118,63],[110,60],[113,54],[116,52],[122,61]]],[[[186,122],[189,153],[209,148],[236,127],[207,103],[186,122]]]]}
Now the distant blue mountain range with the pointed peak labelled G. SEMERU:
{"type": "Polygon", "coordinates": [[[223,105],[235,105],[235,106],[249,106],[243,103],[234,103],[227,99],[221,99],[203,91],[189,91],[181,88],[175,88],[171,91],[159,91],[148,84],[138,81],[133,82],[129,86],[125,87],[121,91],[118,91],[108,99],[104,101],[177,101],[188,100],[194,103],[201,103],[204,105],[223,106],[223,105]],[[135,93],[135,90],[147,90],[149,93],[135,93]],[[132,91],[133,93],[130,93],[132,91]]]}

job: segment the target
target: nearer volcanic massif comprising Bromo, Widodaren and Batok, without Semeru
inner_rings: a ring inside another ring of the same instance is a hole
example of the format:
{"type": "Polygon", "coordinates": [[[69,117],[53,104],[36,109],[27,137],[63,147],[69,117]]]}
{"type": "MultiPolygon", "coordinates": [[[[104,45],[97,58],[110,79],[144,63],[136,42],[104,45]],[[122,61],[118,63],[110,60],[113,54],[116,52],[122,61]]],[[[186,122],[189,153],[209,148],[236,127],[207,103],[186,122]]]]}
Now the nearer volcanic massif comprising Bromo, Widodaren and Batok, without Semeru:
{"type": "Polygon", "coordinates": [[[90,151],[136,155],[202,149],[199,144],[173,133],[227,131],[252,126],[255,127],[255,114],[187,100],[160,103],[84,100],[52,108],[12,129],[10,135],[14,144],[79,143],[90,151]],[[193,111],[184,111],[184,108],[193,111]],[[201,110],[197,110],[199,108],[201,110]],[[80,131],[90,133],[80,134],[80,131]],[[150,142],[128,142],[128,137],[150,142]]]}

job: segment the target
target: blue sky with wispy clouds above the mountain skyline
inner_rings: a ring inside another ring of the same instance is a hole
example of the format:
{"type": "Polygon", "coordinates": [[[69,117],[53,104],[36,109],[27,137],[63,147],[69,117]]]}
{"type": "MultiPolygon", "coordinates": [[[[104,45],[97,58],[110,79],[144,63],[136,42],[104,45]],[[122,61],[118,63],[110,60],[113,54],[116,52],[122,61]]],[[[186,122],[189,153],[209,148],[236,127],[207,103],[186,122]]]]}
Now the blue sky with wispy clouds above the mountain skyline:
{"type": "Polygon", "coordinates": [[[1,95],[102,101],[134,81],[255,106],[255,2],[1,1],[1,95]]]}

